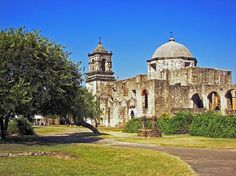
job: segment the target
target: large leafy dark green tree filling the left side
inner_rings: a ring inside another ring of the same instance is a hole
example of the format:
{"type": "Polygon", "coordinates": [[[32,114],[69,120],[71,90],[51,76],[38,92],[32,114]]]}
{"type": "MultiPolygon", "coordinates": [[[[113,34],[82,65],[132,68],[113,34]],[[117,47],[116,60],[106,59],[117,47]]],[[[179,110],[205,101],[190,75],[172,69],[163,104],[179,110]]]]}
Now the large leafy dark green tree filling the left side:
{"type": "MultiPolygon", "coordinates": [[[[29,119],[37,113],[63,117],[74,113],[75,108],[85,107],[71,108],[72,102],[81,94],[82,75],[79,64],[70,61],[69,55],[62,45],[42,37],[38,31],[27,32],[20,28],[0,32],[2,139],[5,139],[9,119],[14,115],[29,119]]],[[[83,116],[76,119],[92,117],[88,115],[91,106],[86,108],[86,115],[84,110],[77,109],[76,112],[83,112],[83,116]]]]}

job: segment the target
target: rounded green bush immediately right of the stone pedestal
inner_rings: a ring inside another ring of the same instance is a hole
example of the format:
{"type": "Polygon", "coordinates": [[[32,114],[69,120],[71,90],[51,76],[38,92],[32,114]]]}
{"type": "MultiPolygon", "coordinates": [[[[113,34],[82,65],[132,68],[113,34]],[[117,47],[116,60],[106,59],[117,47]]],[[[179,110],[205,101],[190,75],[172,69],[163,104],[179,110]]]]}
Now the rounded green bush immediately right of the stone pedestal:
{"type": "Polygon", "coordinates": [[[174,116],[164,115],[157,120],[158,127],[165,134],[186,134],[189,132],[193,115],[189,112],[179,112],[174,116]]]}

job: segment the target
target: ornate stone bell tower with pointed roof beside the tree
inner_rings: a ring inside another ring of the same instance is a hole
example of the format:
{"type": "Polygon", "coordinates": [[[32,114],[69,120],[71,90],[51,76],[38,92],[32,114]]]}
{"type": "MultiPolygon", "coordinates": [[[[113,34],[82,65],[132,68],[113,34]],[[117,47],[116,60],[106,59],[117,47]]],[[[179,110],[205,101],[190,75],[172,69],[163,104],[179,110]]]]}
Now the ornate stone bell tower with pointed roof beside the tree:
{"type": "Polygon", "coordinates": [[[86,87],[93,94],[97,93],[101,83],[115,81],[112,71],[112,52],[108,52],[102,45],[101,39],[92,53],[88,54],[89,70],[86,73],[86,87]]]}

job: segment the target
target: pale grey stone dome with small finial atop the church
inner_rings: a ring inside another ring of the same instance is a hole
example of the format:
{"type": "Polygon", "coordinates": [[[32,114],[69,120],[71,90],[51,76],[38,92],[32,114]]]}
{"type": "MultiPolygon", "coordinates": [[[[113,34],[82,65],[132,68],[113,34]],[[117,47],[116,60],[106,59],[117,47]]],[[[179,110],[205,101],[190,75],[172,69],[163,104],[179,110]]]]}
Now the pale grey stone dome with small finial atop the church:
{"type": "Polygon", "coordinates": [[[156,57],[192,57],[192,54],[184,45],[175,42],[171,37],[169,42],[164,43],[156,49],[152,58],[156,57]]]}

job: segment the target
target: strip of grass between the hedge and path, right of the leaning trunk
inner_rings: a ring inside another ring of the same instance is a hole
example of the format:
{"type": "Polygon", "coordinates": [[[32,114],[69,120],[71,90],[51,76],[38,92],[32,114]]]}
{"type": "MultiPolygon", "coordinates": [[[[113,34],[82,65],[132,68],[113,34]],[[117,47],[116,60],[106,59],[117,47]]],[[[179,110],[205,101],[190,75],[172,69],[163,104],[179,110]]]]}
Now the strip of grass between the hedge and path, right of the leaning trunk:
{"type": "Polygon", "coordinates": [[[114,138],[122,142],[156,144],[159,146],[175,147],[193,147],[210,149],[236,149],[235,138],[211,138],[201,136],[181,135],[163,135],[161,138],[138,137],[136,133],[122,133],[122,129],[100,128],[101,132],[110,134],[104,135],[104,138],[114,138]]]}

